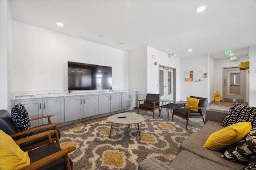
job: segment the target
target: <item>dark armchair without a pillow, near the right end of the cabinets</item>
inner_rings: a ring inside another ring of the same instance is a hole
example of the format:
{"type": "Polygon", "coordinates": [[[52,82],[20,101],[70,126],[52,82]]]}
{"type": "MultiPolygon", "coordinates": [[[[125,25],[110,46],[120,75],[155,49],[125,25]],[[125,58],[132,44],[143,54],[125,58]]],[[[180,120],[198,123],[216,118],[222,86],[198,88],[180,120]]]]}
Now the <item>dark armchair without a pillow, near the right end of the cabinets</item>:
{"type": "Polygon", "coordinates": [[[140,110],[144,111],[152,111],[153,112],[153,119],[155,116],[155,109],[159,109],[160,112],[160,94],[147,94],[146,99],[138,100],[139,102],[139,108],[138,108],[138,114],[140,114],[140,110]],[[144,101],[143,104],[140,104],[140,102],[144,101]]]}

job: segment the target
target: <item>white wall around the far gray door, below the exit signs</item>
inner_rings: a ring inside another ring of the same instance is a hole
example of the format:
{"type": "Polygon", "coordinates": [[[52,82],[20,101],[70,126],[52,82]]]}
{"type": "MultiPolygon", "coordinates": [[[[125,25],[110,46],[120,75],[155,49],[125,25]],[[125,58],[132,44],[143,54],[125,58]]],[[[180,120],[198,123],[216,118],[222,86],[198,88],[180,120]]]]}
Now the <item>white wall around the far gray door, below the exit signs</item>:
{"type": "Polygon", "coordinates": [[[225,58],[225,59],[218,59],[215,60],[215,66],[214,66],[214,82],[213,82],[213,87],[214,87],[214,94],[216,91],[220,91],[220,100],[223,100],[222,96],[223,96],[223,85],[222,85],[222,69],[224,67],[234,67],[234,66],[239,66],[240,62],[244,62],[244,61],[248,61],[247,60],[247,56],[244,57],[238,57],[237,60],[235,61],[230,61],[230,58],[225,58]]]}

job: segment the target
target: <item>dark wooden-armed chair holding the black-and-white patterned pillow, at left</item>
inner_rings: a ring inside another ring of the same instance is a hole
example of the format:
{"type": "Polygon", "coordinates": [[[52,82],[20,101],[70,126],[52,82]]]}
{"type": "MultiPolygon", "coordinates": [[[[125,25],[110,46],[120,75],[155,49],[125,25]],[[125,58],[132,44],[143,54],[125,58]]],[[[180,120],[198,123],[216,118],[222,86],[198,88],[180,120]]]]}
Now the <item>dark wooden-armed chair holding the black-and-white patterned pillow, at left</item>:
{"type": "MultiPolygon", "coordinates": [[[[57,125],[60,125],[61,123],[52,123],[50,117],[52,117],[54,115],[46,115],[46,116],[42,116],[42,117],[36,117],[36,118],[32,118],[30,119],[30,121],[33,120],[38,120],[38,119],[48,119],[48,124],[44,124],[44,125],[38,125],[36,127],[32,127],[29,130],[26,131],[21,131],[18,132],[16,130],[16,127],[12,121],[12,117],[11,114],[7,111],[7,110],[0,110],[0,129],[2,129],[2,131],[4,131],[6,134],[10,135],[12,137],[12,139],[14,139],[14,141],[18,140],[18,139],[22,139],[24,137],[24,135],[29,134],[28,136],[32,136],[32,135],[36,135],[38,133],[44,132],[44,131],[49,131],[49,130],[54,130],[56,129],[57,132],[56,133],[52,133],[52,141],[56,141],[56,143],[58,145],[60,145],[59,139],[60,139],[60,131],[57,127],[57,125]]],[[[26,143],[22,143],[20,145],[20,148],[24,151],[28,151],[34,148],[37,148],[39,146],[42,145],[46,145],[48,144],[48,138],[47,137],[42,137],[39,139],[35,139],[26,143]]]]}

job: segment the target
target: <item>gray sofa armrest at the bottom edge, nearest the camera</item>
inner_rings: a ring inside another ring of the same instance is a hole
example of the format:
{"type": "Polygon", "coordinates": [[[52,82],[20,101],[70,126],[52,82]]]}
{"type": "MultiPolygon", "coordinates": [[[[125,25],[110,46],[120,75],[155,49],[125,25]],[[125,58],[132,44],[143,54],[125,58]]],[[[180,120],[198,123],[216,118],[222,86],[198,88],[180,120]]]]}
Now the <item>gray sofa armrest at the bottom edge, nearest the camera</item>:
{"type": "Polygon", "coordinates": [[[158,160],[157,158],[147,158],[142,160],[138,165],[138,170],[174,170],[164,162],[158,160]]]}

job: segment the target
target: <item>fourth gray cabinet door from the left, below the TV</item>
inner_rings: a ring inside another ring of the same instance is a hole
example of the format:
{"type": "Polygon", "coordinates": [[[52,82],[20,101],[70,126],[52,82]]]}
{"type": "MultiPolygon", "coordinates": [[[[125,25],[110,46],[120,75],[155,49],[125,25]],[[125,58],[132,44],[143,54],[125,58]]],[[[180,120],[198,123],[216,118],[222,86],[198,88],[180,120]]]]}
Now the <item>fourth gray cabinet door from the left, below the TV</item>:
{"type": "Polygon", "coordinates": [[[98,95],[84,96],[84,112],[83,117],[98,115],[98,95]]]}

